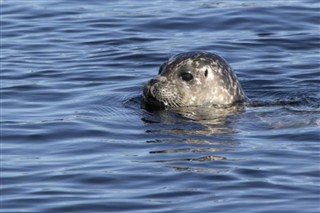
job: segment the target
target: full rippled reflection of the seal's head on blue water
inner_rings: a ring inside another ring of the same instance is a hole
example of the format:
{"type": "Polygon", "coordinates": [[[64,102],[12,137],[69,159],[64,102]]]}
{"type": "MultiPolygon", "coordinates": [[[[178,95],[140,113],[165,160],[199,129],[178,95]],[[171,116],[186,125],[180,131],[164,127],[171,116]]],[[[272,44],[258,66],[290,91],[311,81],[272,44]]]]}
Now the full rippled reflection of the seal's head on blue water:
{"type": "Polygon", "coordinates": [[[239,145],[238,142],[232,141],[232,135],[236,133],[232,129],[233,116],[243,112],[244,107],[239,105],[232,107],[185,107],[146,112],[147,116],[142,120],[149,128],[154,128],[147,130],[147,132],[173,136],[171,139],[147,141],[147,143],[167,147],[166,149],[156,149],[158,146],[154,146],[154,150],[149,152],[155,155],[151,161],[164,163],[164,167],[177,171],[209,173],[225,171],[225,169],[207,169],[201,168],[199,165],[188,164],[186,166],[175,165],[175,163],[226,160],[227,157],[223,155],[234,151],[239,145]],[[150,116],[153,121],[150,121],[150,116]],[[157,125],[161,125],[158,130],[157,125]],[[229,139],[213,140],[212,136],[214,135],[228,135],[229,139]],[[188,155],[187,158],[179,157],[188,155]]]}

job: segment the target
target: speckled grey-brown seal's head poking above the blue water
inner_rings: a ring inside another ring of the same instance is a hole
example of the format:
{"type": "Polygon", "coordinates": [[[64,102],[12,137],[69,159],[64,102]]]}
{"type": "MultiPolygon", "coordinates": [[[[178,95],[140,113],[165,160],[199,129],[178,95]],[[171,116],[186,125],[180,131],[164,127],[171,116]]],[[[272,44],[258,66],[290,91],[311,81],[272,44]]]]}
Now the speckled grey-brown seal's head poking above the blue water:
{"type": "Polygon", "coordinates": [[[143,88],[147,107],[220,106],[247,100],[231,66],[209,52],[185,52],[160,66],[143,88]]]}

